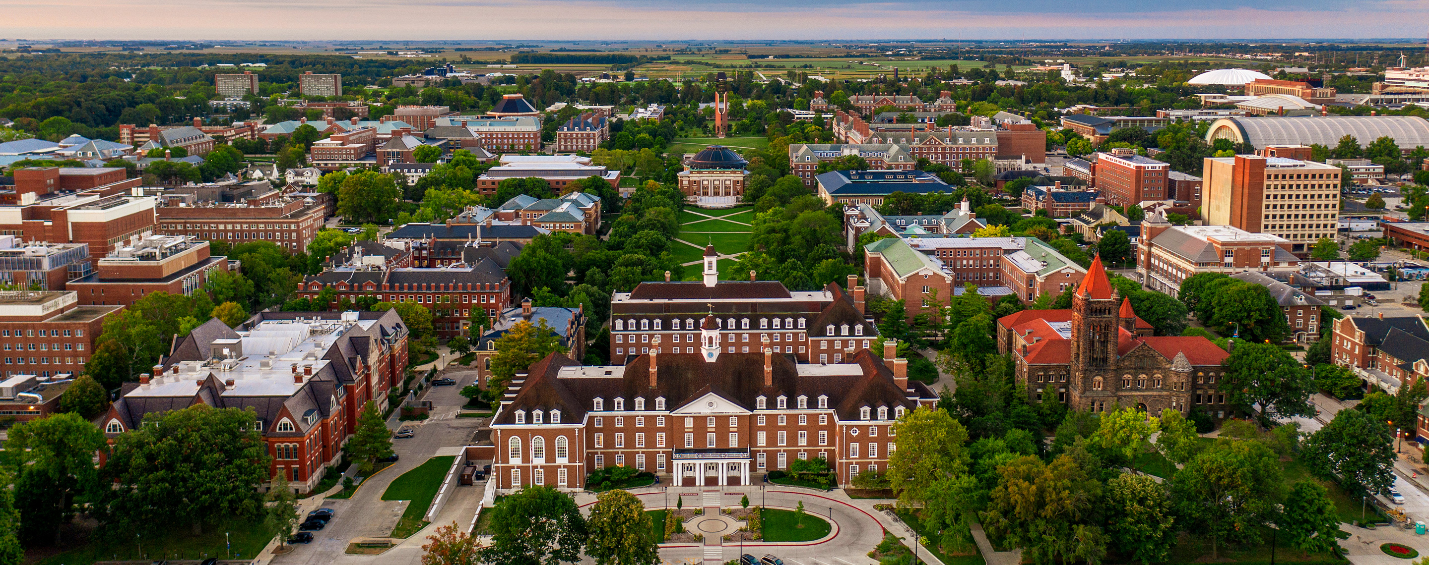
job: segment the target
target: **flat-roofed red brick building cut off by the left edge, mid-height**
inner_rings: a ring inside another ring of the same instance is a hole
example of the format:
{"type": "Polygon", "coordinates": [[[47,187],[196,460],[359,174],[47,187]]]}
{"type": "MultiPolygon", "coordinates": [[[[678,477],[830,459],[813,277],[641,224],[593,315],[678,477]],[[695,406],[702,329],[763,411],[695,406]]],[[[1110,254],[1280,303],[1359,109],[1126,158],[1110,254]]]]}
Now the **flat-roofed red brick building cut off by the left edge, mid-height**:
{"type": "Polygon", "coordinates": [[[81,305],[74,291],[0,292],[4,377],[84,372],[94,340],[116,305],[81,305]]]}

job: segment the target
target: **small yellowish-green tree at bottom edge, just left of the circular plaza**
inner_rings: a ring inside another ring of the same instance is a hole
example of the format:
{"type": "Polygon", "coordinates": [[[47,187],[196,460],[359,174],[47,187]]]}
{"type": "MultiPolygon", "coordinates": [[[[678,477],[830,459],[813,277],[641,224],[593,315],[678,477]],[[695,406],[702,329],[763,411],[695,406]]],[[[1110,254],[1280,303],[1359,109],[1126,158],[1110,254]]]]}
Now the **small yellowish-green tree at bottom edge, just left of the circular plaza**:
{"type": "Polygon", "coordinates": [[[602,492],[586,519],[586,555],[597,565],[654,565],[660,562],[644,504],[622,489],[602,492]]]}

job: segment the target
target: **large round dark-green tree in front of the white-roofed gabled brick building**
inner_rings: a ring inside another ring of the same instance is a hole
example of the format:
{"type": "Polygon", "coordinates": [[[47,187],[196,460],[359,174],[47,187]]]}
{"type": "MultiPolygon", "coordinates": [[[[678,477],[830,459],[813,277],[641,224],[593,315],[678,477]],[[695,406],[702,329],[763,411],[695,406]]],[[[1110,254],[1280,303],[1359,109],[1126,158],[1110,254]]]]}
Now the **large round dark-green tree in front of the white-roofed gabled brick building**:
{"type": "Polygon", "coordinates": [[[267,442],[253,411],[196,404],[150,412],[143,425],[120,434],[100,482],[101,514],[129,531],[167,524],[259,518],[269,478],[267,442]]]}

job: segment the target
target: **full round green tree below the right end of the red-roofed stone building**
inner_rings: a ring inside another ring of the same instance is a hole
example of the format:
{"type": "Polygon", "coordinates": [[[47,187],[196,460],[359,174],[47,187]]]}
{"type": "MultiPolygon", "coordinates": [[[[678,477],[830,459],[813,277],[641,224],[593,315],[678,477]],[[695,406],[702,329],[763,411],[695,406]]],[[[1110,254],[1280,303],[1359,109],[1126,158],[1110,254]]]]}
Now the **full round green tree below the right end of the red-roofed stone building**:
{"type": "Polygon", "coordinates": [[[1176,471],[1170,489],[1183,526],[1210,538],[1215,561],[1222,542],[1259,539],[1279,481],[1280,462],[1270,448],[1258,441],[1220,439],[1176,471]]]}

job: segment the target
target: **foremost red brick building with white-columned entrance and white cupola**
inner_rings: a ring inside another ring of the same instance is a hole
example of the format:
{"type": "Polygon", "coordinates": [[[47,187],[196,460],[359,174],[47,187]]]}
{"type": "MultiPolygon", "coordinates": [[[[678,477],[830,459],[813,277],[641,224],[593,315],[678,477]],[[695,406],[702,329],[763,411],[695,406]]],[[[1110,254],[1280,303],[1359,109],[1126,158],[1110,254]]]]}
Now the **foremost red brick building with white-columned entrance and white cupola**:
{"type": "Polygon", "coordinates": [[[825,458],[839,484],[887,468],[893,422],[937,394],[909,381],[906,360],[873,351],[847,362],[796,364],[727,352],[712,314],[700,352],[652,350],[624,367],[582,367],[552,354],[530,367],[492,428],[490,487],[584,488],[586,475],[632,467],[674,485],[753,485],[795,459],[825,458]]]}

